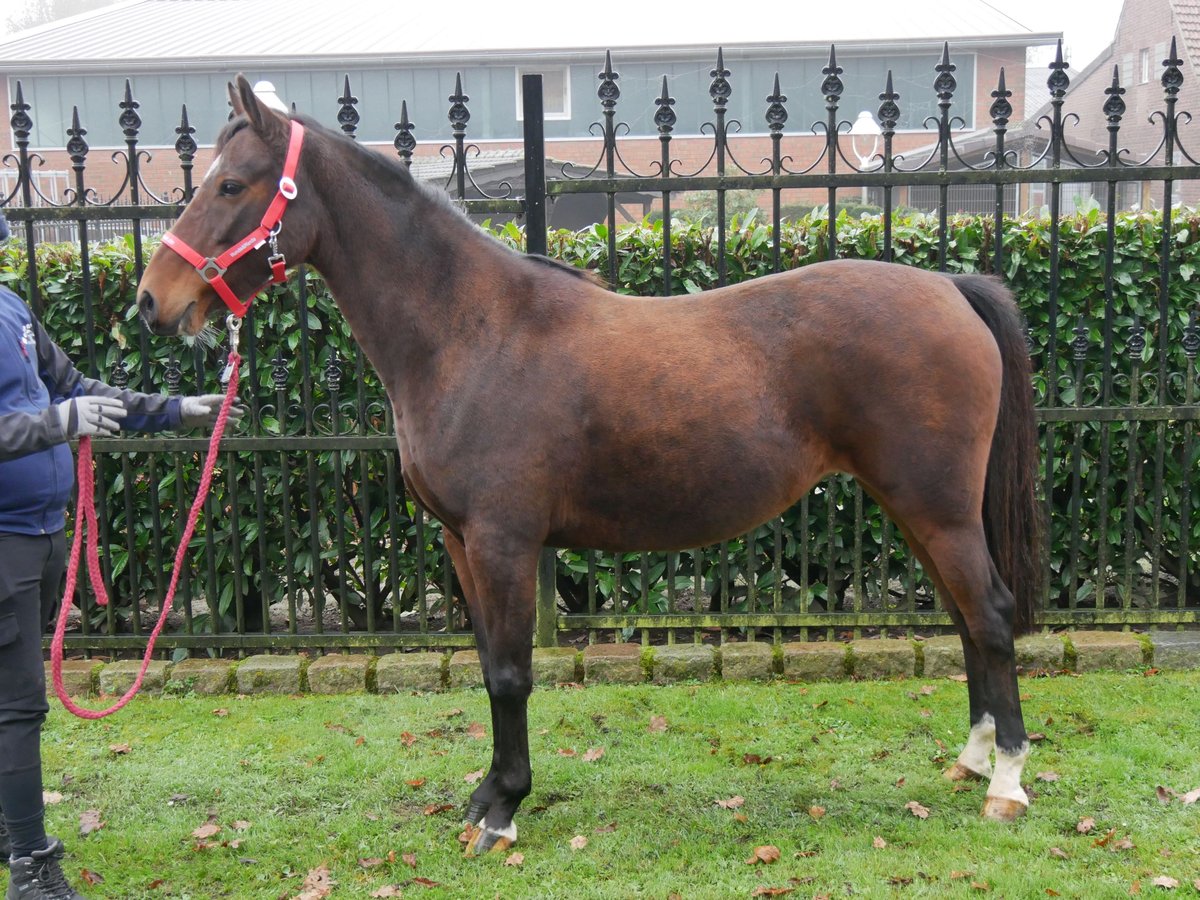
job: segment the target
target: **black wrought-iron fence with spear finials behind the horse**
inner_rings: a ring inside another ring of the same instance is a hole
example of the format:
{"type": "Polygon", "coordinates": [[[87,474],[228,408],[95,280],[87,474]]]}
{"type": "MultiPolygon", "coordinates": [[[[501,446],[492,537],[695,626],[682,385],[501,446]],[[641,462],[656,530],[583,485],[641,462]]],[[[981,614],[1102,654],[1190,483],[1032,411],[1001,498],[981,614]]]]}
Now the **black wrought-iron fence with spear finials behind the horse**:
{"type": "MultiPolygon", "coordinates": [[[[1108,146],[1091,158],[1073,149],[1061,53],[1049,68],[1050,102],[1033,119],[1042,132],[1033,152],[1027,137],[1024,154],[1006,143],[1012,92],[1001,72],[991,92],[991,128],[984,133],[988,149],[972,156],[965,145],[978,143],[979,134],[970,134],[954,114],[948,48],[931,72],[938,114],[926,120],[928,145],[907,154],[894,149],[902,98],[889,77],[875,113],[878,143],[860,154],[851,151],[852,126],[839,108],[842,70],[830,50],[821,85],[826,120],[790,131],[787,97],[776,78],[763,115],[761,140],[768,152],[755,166],[742,157],[757,145],[739,138],[740,124],[727,120],[732,73],[718,52],[709,90],[713,119],[704,130],[708,158],[682,172],[673,156],[676,101],[666,79],[655,101],[659,157],[642,166],[626,162],[619,74],[606,58],[594,167],[546,172],[540,82],[527,76],[524,190],[490,194],[473,179],[478,148],[468,139],[468,97],[458,84],[449,97],[451,143],[442,148],[452,160],[445,187],[460,198],[481,198],[464,200],[472,212],[523,216],[530,252],[546,248],[547,204],[578,194],[601,198],[607,227],[592,232],[596,248],[589,258],[625,289],[631,289],[625,269],[636,253],[617,226],[622,198],[630,194],[654,199],[654,224],[647,228],[658,258],[652,282],[642,287],[652,293],[695,287],[683,259],[691,251],[680,245],[695,226],[676,215],[679,198],[695,196],[715,199],[714,215],[701,229],[714,284],[745,275],[742,259],[731,274],[728,248],[754,229],[764,235],[762,272],[846,254],[1010,277],[1020,269],[1027,287],[1036,286],[1028,288],[1036,302],[1026,298],[1026,308],[1033,313],[1033,386],[1050,518],[1042,620],[1046,626],[1180,628],[1200,622],[1200,517],[1193,496],[1200,329],[1190,256],[1181,256],[1200,235],[1194,216],[1177,209],[1182,185],[1200,180],[1200,164],[1181,136],[1181,124],[1189,120],[1177,108],[1181,65],[1172,43],[1163,62],[1163,106],[1153,118],[1158,145],[1144,158],[1132,158],[1121,146],[1124,90],[1116,72],[1106,102],[1094,110],[1105,119],[1108,146]],[[1080,185],[1097,186],[1082,226],[1097,254],[1093,275],[1082,260],[1063,259],[1063,247],[1076,247],[1063,229],[1081,227],[1063,218],[1064,200],[1080,185]],[[761,197],[757,223],[748,224],[744,215],[736,221],[727,209],[734,192],[748,191],[760,192],[751,194],[761,197]],[[1122,220],[1130,198],[1152,191],[1157,212],[1142,214],[1133,226],[1122,220]],[[816,196],[817,205],[790,233],[785,209],[796,196],[816,196]],[[839,215],[847,196],[856,214],[864,212],[864,202],[877,203],[877,214],[866,209],[866,218],[847,223],[839,215]],[[1044,216],[1030,214],[1037,223],[1031,240],[1042,242],[1044,265],[1014,259],[1013,216],[1028,206],[1021,206],[1021,197],[1044,199],[1044,216]],[[936,211],[924,222],[930,240],[920,252],[920,229],[900,208],[919,208],[929,198],[936,198],[936,211]],[[974,220],[980,246],[965,254],[955,246],[955,235],[966,234],[955,212],[979,210],[984,199],[988,214],[974,220]],[[854,239],[845,240],[851,232],[854,239]],[[1153,264],[1130,268],[1122,244],[1128,233],[1148,242],[1153,264]],[[1130,301],[1147,294],[1148,302],[1130,301]]],[[[19,85],[14,100],[16,149],[5,163],[16,174],[0,199],[24,251],[16,251],[10,281],[23,287],[90,373],[143,390],[216,389],[214,348],[200,343],[179,359],[176,346],[151,342],[127,316],[145,258],[146,223],[169,222],[193,191],[198,148],[186,109],[176,128],[175,186],[151,190],[145,176],[151,155],[138,145],[138,104],[126,91],[120,103],[126,146],[112,156],[122,169],[121,184],[102,199],[86,182],[89,146],[78,116],[64,149],[71,186],[58,196],[42,191],[37,173],[44,161],[29,148],[36,110],[22,100],[19,85]],[[115,251],[95,244],[97,232],[113,223],[128,234],[115,251]],[[50,226],[72,229],[73,254],[42,246],[50,226]]],[[[337,124],[354,138],[358,101],[349,79],[337,103],[337,124]]],[[[408,162],[419,148],[407,107],[397,118],[394,148],[408,162]]],[[[247,325],[250,424],[222,445],[217,490],[162,644],[176,652],[469,644],[439,528],[404,494],[390,407],[319,277],[296,271],[287,288],[253,307],[247,325]]],[[[163,594],[173,535],[203,445],[198,437],[96,442],[97,484],[106,486],[100,497],[104,571],[110,593],[121,600],[101,610],[83,595],[68,646],[140,646],[145,619],[163,594]]],[[[948,624],[892,524],[841,478],[734,541],[683,553],[547,552],[541,575],[540,643],[553,643],[563,631],[673,642],[762,630],[776,640],[864,629],[912,634],[948,624]]]]}

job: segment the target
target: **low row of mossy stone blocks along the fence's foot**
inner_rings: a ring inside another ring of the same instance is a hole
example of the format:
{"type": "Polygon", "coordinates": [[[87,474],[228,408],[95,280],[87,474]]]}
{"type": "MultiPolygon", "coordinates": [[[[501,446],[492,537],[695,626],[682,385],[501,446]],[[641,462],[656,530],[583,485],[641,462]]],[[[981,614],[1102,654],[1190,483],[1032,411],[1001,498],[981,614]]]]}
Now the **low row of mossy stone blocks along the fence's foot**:
{"type": "MultiPolygon", "coordinates": [[[[1031,635],[1016,642],[1024,674],[1124,671],[1146,666],[1200,668],[1200,631],[1072,631],[1031,635]]],[[[137,676],[137,660],[66,660],[62,679],[72,696],[120,695],[137,676]]],[[[592,644],[533,652],[534,680],[554,684],[671,684],[709,680],[821,682],[874,678],[947,678],[964,674],[954,636],[925,641],[881,638],[850,643],[727,643],[642,647],[592,644]]],[[[49,680],[49,664],[47,664],[49,680]]],[[[481,688],[479,654],[389,653],[258,655],[244,660],[156,660],[143,682],[148,694],[394,694],[481,688]]]]}

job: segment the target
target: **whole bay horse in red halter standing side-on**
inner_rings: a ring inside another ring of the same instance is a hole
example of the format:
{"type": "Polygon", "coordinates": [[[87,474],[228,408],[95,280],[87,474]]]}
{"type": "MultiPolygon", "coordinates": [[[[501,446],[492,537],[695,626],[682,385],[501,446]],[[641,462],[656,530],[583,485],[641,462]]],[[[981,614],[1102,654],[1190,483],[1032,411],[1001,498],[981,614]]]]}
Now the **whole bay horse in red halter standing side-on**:
{"type": "Polygon", "coordinates": [[[542,546],[713,544],[833,472],[898,523],[962,638],[971,730],[947,775],[990,778],[985,817],[1025,811],[1013,637],[1039,575],[1036,432],[1021,319],[998,281],[835,260],[620,296],[509,250],[397,161],[266,108],[244,77],[229,92],[235,116],[145,269],[140,316],[196,335],[284,259],[325,277],[470,613],[493,755],[468,854],[516,840],[530,791],[542,546]]]}

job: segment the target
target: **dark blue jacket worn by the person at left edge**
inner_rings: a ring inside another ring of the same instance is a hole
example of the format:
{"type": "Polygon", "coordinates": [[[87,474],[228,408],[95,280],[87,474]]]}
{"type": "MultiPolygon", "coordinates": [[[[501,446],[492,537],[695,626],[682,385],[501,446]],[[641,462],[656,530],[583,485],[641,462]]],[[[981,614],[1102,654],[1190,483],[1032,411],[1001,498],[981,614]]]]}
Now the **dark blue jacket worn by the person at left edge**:
{"type": "Polygon", "coordinates": [[[0,287],[0,533],[52,534],[65,526],[74,466],[55,403],[84,394],[128,409],[121,431],[179,427],[180,400],[85,378],[24,301],[0,287]]]}

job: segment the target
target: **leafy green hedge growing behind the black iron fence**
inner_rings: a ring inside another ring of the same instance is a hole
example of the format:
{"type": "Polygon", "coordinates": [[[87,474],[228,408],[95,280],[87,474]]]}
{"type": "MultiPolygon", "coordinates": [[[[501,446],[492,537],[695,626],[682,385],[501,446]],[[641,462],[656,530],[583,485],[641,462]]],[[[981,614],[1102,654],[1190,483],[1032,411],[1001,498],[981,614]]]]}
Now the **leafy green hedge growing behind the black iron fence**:
{"type": "MultiPolygon", "coordinates": [[[[880,218],[846,215],[838,221],[839,256],[878,258],[882,253],[883,228],[880,218]]],[[[1187,396],[1194,358],[1184,349],[1184,332],[1189,314],[1196,308],[1200,293],[1200,216],[1193,211],[1176,212],[1171,223],[1170,241],[1170,308],[1168,318],[1159,320],[1158,281],[1162,220],[1158,214],[1140,212],[1120,216],[1115,222],[1114,256],[1114,304],[1111,308],[1112,343],[1108,373],[1112,390],[1110,406],[1130,402],[1136,384],[1138,403],[1156,404],[1159,392],[1159,367],[1166,373],[1168,403],[1193,401],[1187,396]],[[1128,342],[1135,323],[1145,328],[1145,348],[1136,360],[1128,354],[1128,342]],[[1159,337],[1165,326],[1165,355],[1160,352],[1159,337]],[[1134,370],[1136,379],[1133,378],[1134,370]]],[[[497,230],[497,238],[521,246],[521,232],[508,226],[497,230]]],[[[1051,224],[1044,218],[1010,220],[1004,223],[1003,277],[1013,287],[1030,325],[1030,337],[1034,360],[1034,390],[1038,403],[1046,406],[1050,396],[1048,385],[1056,385],[1057,406],[1084,406],[1100,403],[1104,384],[1105,329],[1104,264],[1106,246],[1105,221],[1097,211],[1064,218],[1060,223],[1061,280],[1058,307],[1055,319],[1057,337],[1050,346],[1049,271],[1051,224]],[[1075,359],[1073,341],[1076,329],[1086,336],[1082,361],[1075,359]],[[1081,377],[1080,377],[1081,376],[1081,377]],[[1076,400],[1078,394],[1078,400],[1076,400]]],[[[703,224],[679,222],[672,229],[673,283],[679,292],[696,292],[714,287],[718,282],[715,232],[703,224]]],[[[952,220],[947,264],[952,271],[989,271],[992,246],[992,223],[989,218],[956,217],[952,220]]],[[[925,216],[908,216],[894,222],[894,257],[899,263],[923,268],[937,266],[937,223],[925,216]]],[[[820,215],[812,220],[785,223],[780,235],[782,266],[791,269],[826,258],[827,223],[820,215]]],[[[662,289],[662,229],[661,223],[644,223],[622,228],[617,235],[618,289],[626,294],[656,294],[662,289]]],[[[604,226],[570,233],[556,232],[550,235],[550,253],[576,265],[598,269],[607,274],[607,230],[604,226]]],[[[77,360],[94,354],[98,370],[108,377],[119,360],[124,361],[133,383],[143,364],[143,338],[133,317],[133,284],[136,262],[131,242],[91,248],[91,278],[82,283],[79,251],[71,246],[48,246],[38,250],[37,271],[41,293],[46,302],[47,329],[77,360]],[[85,299],[85,289],[88,298],[85,299]],[[97,341],[85,346],[84,317],[90,301],[96,323],[97,341]]],[[[727,280],[732,282],[758,277],[772,271],[772,234],[769,227],[751,220],[745,226],[728,229],[726,245],[727,280]]],[[[10,284],[18,293],[28,293],[28,260],[19,248],[10,244],[0,250],[0,282],[10,284]]],[[[340,430],[344,432],[385,432],[389,427],[388,406],[382,388],[365,366],[362,396],[366,401],[359,412],[359,386],[354,378],[356,349],[348,329],[325,294],[319,278],[308,276],[305,316],[307,334],[298,322],[299,310],[295,286],[272,289],[272,296],[260,300],[254,310],[253,332],[257,341],[258,365],[252,383],[259,409],[258,433],[302,433],[305,416],[299,412],[305,385],[301,380],[300,358],[308,355],[316,373],[311,385],[312,402],[319,408],[314,413],[311,428],[328,432],[334,422],[330,412],[328,385],[320,377],[330,355],[336,352],[349,360],[340,395],[340,430]],[[284,410],[281,415],[276,402],[277,391],[272,382],[270,360],[276,354],[288,360],[289,368],[281,389],[284,410]]],[[[152,340],[145,343],[151,362],[151,383],[144,389],[158,390],[163,383],[164,364],[172,353],[188,353],[184,390],[198,388],[200,377],[204,390],[216,388],[218,352],[198,346],[185,350],[175,341],[152,340]]],[[[1194,354],[1194,350],[1193,350],[1194,354]]],[[[250,396],[251,388],[242,395],[250,396]]],[[[1115,592],[1118,601],[1133,605],[1154,602],[1154,584],[1148,584],[1148,571],[1178,572],[1198,568],[1196,548],[1200,547],[1200,515],[1194,510],[1192,473],[1196,470],[1196,442],[1192,439],[1192,426],[1178,424],[1156,426],[1154,422],[1134,425],[1097,422],[1060,424],[1043,430],[1043,449],[1049,450],[1051,461],[1050,482],[1050,535],[1048,592],[1051,605],[1094,602],[1098,580],[1098,559],[1105,556],[1104,583],[1110,595],[1115,592]],[[1108,469],[1102,482],[1100,460],[1108,446],[1108,469]],[[1162,455],[1159,457],[1159,454],[1162,455]],[[1075,469],[1079,485],[1074,485],[1075,469]],[[1162,497],[1157,491],[1158,472],[1162,470],[1162,497]],[[1132,478],[1130,478],[1132,473],[1132,478]],[[1182,523],[1187,516],[1188,553],[1182,552],[1182,523]],[[1130,524],[1132,523],[1132,524],[1130,524]],[[1127,554],[1127,541],[1133,552],[1127,554]],[[1070,570],[1079,574],[1073,577],[1070,570]],[[1086,577],[1085,577],[1086,576],[1086,577]],[[1130,593],[1132,592],[1132,593],[1130,593]]],[[[179,464],[160,457],[156,469],[150,468],[145,454],[125,455],[126,462],[106,461],[114,473],[103,479],[106,486],[106,521],[113,550],[114,576],[122,596],[157,596],[157,580],[161,580],[155,562],[156,536],[152,528],[152,487],[158,486],[158,510],[166,522],[162,544],[169,552],[179,497],[176,478],[185,476],[190,493],[194,485],[198,460],[187,455],[179,464]],[[116,470],[121,472],[118,473],[116,470]],[[136,475],[126,496],[125,473],[136,475]],[[127,502],[128,499],[128,502],[127,502]],[[132,524],[132,528],[130,527],[132,524]],[[128,536],[132,535],[132,536],[128,536]]],[[[215,503],[224,510],[208,524],[205,538],[197,539],[196,577],[202,593],[216,594],[214,604],[220,624],[198,620],[197,629],[222,630],[234,623],[233,598],[240,593],[250,607],[247,626],[258,624],[254,612],[260,600],[281,595],[284,576],[282,553],[286,538],[295,548],[292,584],[300,599],[324,598],[342,593],[348,598],[350,619],[361,625],[366,620],[364,598],[371,593],[367,583],[373,583],[378,601],[373,605],[377,617],[390,617],[394,612],[413,608],[415,584],[419,575],[434,586],[444,583],[444,560],[439,551],[440,541],[436,527],[425,528],[419,540],[415,510],[412,504],[397,510],[394,524],[397,536],[398,571],[389,570],[385,552],[385,530],[389,526],[385,491],[385,454],[367,454],[359,457],[354,452],[342,452],[340,460],[332,454],[318,454],[308,467],[308,461],[290,455],[266,452],[257,464],[260,469],[263,498],[268,515],[265,533],[259,534],[256,494],[253,486],[256,461],[252,455],[242,455],[234,466],[217,479],[215,503]],[[335,500],[341,494],[347,504],[349,520],[346,526],[344,547],[338,552],[338,523],[335,521],[335,500]],[[235,496],[236,494],[236,496],[235,496]],[[284,496],[286,494],[286,496],[284,496]],[[280,504],[287,502],[293,510],[290,535],[283,534],[282,518],[277,515],[280,504]],[[233,534],[236,508],[238,532],[233,534]],[[371,540],[365,540],[367,523],[371,540]],[[371,545],[373,558],[367,565],[365,548],[371,545]],[[238,570],[239,580],[230,577],[234,570],[230,559],[234,547],[245,553],[238,570]],[[206,551],[216,554],[215,565],[209,568],[206,551]],[[259,554],[259,547],[264,552],[259,554]],[[418,550],[425,557],[425,572],[416,571],[418,550]],[[215,571],[216,580],[206,577],[215,571]],[[388,578],[394,576],[403,590],[398,604],[388,596],[388,578]],[[343,586],[341,580],[346,580],[343,586]]],[[[894,596],[881,596],[878,572],[887,563],[892,577],[901,577],[908,570],[908,560],[902,545],[887,536],[883,523],[874,504],[863,503],[857,487],[844,478],[834,478],[823,484],[804,504],[790,510],[782,522],[781,551],[785,576],[791,581],[781,586],[784,607],[809,608],[808,600],[834,606],[842,602],[842,594],[854,570],[856,560],[865,566],[865,594],[859,602],[874,596],[876,604],[894,605],[894,596]],[[856,518],[856,508],[863,506],[865,522],[856,518]],[[887,544],[887,559],[882,547],[887,544]],[[802,565],[806,569],[802,572],[802,565]],[[811,593],[806,599],[797,590],[796,582],[802,574],[808,575],[811,593]],[[871,587],[875,584],[875,587],[871,587]],[[832,595],[832,599],[830,599],[832,595]]],[[[775,535],[770,526],[757,529],[743,540],[733,541],[724,548],[706,548],[682,554],[674,564],[677,587],[691,587],[698,576],[704,593],[720,593],[726,582],[727,608],[749,608],[748,588],[757,594],[756,606],[770,608],[774,575],[772,558],[775,535]],[[754,556],[752,575],[748,576],[754,556]],[[698,570],[698,571],[697,571],[698,570]],[[742,577],[739,577],[739,575],[742,577]]],[[[592,557],[596,575],[599,601],[611,596],[618,576],[618,560],[612,557],[592,557]]],[[[674,563],[674,560],[673,560],[674,563]]],[[[586,598],[581,587],[588,571],[588,557],[564,552],[559,558],[559,587],[572,608],[580,608],[586,598]]],[[[666,594],[667,559],[662,554],[625,554],[619,560],[623,583],[622,604],[647,602],[649,607],[662,608],[666,594]]],[[[1158,586],[1168,596],[1175,587],[1168,577],[1158,586]]],[[[1200,598],[1200,581],[1190,576],[1192,604],[1200,598]]],[[[922,602],[928,598],[922,598],[922,602]]],[[[124,616],[128,616],[128,601],[124,616]]],[[[386,618],[379,618],[386,624],[386,618]]]]}

